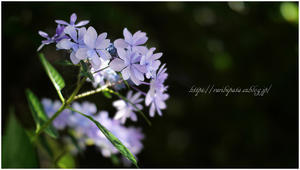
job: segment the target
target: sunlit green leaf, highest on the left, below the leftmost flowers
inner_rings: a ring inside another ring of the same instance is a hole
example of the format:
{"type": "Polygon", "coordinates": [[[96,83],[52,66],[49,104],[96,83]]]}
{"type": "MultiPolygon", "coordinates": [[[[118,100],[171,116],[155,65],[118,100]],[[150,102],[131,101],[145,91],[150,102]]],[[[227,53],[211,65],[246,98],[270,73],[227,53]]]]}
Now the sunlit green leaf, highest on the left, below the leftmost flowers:
{"type": "Polygon", "coordinates": [[[52,81],[59,98],[62,102],[64,102],[64,97],[61,94],[61,90],[65,87],[65,81],[62,76],[56,71],[56,69],[46,60],[44,54],[40,53],[40,60],[46,70],[47,75],[52,81]]]}

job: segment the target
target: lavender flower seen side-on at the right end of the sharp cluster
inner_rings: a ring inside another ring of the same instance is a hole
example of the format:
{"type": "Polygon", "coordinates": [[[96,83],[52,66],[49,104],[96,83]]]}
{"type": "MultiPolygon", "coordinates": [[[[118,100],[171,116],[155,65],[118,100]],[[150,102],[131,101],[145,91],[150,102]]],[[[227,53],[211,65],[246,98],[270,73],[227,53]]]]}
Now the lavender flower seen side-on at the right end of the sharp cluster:
{"type": "Polygon", "coordinates": [[[150,106],[150,116],[153,117],[155,110],[158,115],[162,116],[162,109],[166,108],[165,100],[169,98],[168,94],[164,92],[167,90],[167,87],[164,86],[164,81],[167,79],[168,74],[166,73],[165,64],[160,67],[157,74],[151,80],[150,90],[148,91],[145,99],[146,106],[150,106]]]}

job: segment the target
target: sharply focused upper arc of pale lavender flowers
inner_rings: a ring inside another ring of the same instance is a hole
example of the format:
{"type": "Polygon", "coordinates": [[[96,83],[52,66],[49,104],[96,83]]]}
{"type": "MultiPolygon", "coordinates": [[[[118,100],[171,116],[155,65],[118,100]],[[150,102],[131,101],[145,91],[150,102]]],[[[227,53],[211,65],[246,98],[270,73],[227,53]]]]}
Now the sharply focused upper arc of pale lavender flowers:
{"type": "Polygon", "coordinates": [[[107,33],[98,35],[96,30],[90,26],[84,27],[89,21],[84,20],[75,23],[77,15],[73,13],[70,17],[70,23],[63,20],[55,20],[58,24],[56,34],[49,37],[47,33],[39,31],[39,34],[46,38],[42,41],[40,50],[44,45],[56,43],[58,50],[67,50],[70,52],[70,60],[73,64],[80,61],[87,63],[90,67],[94,80],[87,79],[93,83],[95,88],[113,84],[113,88],[125,88],[124,81],[128,81],[132,89],[137,94],[128,92],[127,97],[132,97],[128,103],[124,100],[114,102],[117,108],[115,119],[126,122],[127,118],[133,121],[137,120],[135,112],[136,107],[132,107],[132,102],[139,104],[145,99],[145,105],[149,106],[149,115],[153,117],[155,112],[162,115],[161,110],[166,108],[165,101],[169,98],[166,93],[167,86],[164,85],[168,77],[166,73],[166,64],[159,60],[162,53],[156,53],[156,48],[148,48],[145,44],[148,41],[147,34],[137,31],[132,34],[127,28],[124,28],[124,38],[120,38],[111,43],[107,39],[107,33]],[[123,80],[123,81],[122,81],[123,80]],[[120,82],[121,81],[121,82],[120,82]],[[138,86],[148,86],[148,92],[142,92],[138,86]],[[143,98],[140,98],[143,95],[143,98]],[[138,96],[136,99],[135,97],[138,96]]]}

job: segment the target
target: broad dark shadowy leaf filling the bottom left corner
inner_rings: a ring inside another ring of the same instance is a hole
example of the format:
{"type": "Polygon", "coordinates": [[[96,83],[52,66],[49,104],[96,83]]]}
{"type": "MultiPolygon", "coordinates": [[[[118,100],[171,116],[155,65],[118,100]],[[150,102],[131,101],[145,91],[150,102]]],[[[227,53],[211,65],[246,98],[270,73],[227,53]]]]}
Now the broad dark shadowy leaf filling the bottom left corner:
{"type": "Polygon", "coordinates": [[[37,154],[13,108],[2,137],[2,168],[38,168],[37,154]]]}

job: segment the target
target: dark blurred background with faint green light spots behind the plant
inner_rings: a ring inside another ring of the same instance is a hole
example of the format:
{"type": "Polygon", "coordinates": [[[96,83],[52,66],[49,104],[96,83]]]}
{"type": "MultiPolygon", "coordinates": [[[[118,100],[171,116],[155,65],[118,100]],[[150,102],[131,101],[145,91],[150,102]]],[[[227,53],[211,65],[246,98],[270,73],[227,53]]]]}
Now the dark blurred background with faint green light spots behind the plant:
{"type": "MultiPolygon", "coordinates": [[[[298,4],[291,2],[2,2],[2,135],[10,108],[22,127],[34,128],[26,88],[39,98],[57,99],[37,57],[43,39],[37,32],[53,35],[54,20],[68,21],[73,12],[111,40],[123,37],[124,27],[145,31],[149,46],[164,53],[167,110],[151,119],[151,127],[141,117],[128,121],[146,136],[140,167],[298,167],[298,4]],[[193,85],[212,84],[272,88],[262,97],[188,92],[193,85]]],[[[69,95],[77,70],[55,64],[67,54],[54,45],[42,52],[65,78],[63,93],[69,95]]],[[[115,99],[88,98],[111,117],[115,99]]],[[[113,165],[91,146],[76,156],[76,166],[113,165]]]]}

